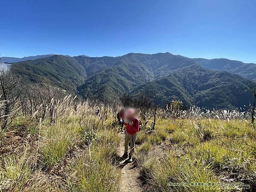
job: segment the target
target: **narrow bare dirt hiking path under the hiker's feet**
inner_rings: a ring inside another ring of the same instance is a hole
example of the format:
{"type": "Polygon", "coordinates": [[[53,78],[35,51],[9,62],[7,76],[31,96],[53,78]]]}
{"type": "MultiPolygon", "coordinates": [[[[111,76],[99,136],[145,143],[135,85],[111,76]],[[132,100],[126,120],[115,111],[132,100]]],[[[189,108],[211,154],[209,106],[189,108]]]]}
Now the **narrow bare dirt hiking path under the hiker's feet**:
{"type": "MultiPolygon", "coordinates": [[[[119,148],[118,154],[121,157],[124,153],[124,137],[125,135],[119,133],[119,137],[122,138],[119,148]]],[[[136,146],[135,146],[136,147],[136,146]]],[[[130,149],[130,147],[129,147],[130,149]]],[[[120,192],[142,192],[145,191],[143,189],[142,183],[140,181],[140,171],[136,166],[136,163],[133,161],[132,163],[128,163],[127,160],[122,160],[119,163],[119,167],[121,169],[121,181],[120,181],[120,192]]]]}

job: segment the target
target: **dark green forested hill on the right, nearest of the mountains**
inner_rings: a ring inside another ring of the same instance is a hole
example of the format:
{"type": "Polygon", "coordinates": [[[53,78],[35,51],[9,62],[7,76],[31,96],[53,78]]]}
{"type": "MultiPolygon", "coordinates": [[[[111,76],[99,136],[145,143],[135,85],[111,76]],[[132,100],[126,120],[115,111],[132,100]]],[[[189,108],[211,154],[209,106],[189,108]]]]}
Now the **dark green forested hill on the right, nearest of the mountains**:
{"type": "Polygon", "coordinates": [[[159,103],[178,96],[185,104],[192,103],[206,108],[236,108],[252,101],[252,94],[245,90],[248,80],[227,72],[207,70],[192,65],[173,71],[169,76],[143,84],[133,93],[157,90],[159,103]]]}

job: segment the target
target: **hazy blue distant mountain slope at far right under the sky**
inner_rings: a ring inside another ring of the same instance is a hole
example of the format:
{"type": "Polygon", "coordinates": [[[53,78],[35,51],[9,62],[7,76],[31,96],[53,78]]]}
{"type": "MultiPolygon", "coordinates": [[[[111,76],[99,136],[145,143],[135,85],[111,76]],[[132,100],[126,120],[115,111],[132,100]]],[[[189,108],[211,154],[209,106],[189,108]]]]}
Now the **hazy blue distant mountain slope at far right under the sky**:
{"type": "Polygon", "coordinates": [[[193,58],[192,60],[210,70],[227,71],[256,81],[256,64],[253,63],[243,63],[225,58],[193,58]]]}

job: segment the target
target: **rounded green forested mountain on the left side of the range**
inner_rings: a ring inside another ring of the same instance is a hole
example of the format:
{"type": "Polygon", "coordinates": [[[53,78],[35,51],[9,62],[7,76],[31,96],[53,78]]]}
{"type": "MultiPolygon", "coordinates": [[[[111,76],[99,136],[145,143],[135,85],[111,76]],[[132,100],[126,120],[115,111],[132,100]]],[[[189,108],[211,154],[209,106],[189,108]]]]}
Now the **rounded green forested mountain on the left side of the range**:
{"type": "Polygon", "coordinates": [[[11,70],[20,81],[44,82],[46,79],[65,90],[76,90],[87,76],[84,67],[73,57],[52,55],[51,57],[22,61],[12,64],[11,70]]]}

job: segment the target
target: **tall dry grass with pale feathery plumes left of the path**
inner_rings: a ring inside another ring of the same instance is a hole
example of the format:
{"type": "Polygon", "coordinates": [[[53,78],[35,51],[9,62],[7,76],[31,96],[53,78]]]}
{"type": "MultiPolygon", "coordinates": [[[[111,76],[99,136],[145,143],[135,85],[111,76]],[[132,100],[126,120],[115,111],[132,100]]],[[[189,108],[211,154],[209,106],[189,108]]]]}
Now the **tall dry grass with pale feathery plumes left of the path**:
{"type": "Polygon", "coordinates": [[[116,151],[120,137],[112,127],[115,115],[108,106],[100,106],[102,118],[94,130],[97,137],[87,145],[83,128],[92,128],[99,106],[86,101],[74,108],[73,101],[71,96],[63,101],[52,99],[54,114],[41,123],[37,122],[39,111],[31,118],[15,119],[13,125],[25,127],[28,142],[36,141],[26,151],[1,155],[0,191],[119,190],[116,151]],[[81,122],[82,116],[92,118],[81,122]]]}

